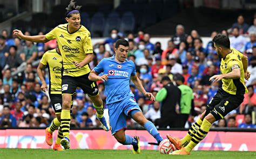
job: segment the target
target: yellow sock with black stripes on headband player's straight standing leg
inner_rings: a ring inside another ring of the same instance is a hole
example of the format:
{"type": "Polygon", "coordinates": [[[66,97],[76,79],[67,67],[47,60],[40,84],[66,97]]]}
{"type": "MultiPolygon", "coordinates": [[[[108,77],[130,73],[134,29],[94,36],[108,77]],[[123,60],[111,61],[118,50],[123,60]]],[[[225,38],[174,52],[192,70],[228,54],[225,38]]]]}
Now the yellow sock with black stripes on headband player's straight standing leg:
{"type": "Polygon", "coordinates": [[[70,110],[62,109],[62,113],[60,115],[61,119],[61,129],[63,133],[63,137],[69,138],[69,130],[70,130],[70,110]]]}

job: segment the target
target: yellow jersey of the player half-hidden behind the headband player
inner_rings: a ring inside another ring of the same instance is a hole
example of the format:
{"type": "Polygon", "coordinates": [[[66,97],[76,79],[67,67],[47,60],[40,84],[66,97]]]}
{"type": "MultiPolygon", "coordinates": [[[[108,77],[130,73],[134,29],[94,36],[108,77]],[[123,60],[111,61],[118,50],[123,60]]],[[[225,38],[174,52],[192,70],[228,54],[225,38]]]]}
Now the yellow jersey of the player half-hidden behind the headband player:
{"type": "Polygon", "coordinates": [[[50,85],[50,94],[62,94],[62,56],[56,49],[46,51],[40,61],[48,66],[50,85]]]}

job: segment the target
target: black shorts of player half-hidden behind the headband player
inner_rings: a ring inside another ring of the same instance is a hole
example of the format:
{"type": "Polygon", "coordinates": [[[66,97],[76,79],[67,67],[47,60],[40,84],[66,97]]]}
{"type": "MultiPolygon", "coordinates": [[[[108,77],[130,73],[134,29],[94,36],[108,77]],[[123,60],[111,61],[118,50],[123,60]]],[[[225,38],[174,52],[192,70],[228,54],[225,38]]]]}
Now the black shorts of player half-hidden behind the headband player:
{"type": "MultiPolygon", "coordinates": [[[[50,99],[51,99],[51,106],[55,111],[55,114],[60,114],[62,113],[62,94],[49,94],[50,99]]],[[[73,96],[71,100],[71,108],[70,108],[70,113],[72,113],[73,109],[73,96]]]]}

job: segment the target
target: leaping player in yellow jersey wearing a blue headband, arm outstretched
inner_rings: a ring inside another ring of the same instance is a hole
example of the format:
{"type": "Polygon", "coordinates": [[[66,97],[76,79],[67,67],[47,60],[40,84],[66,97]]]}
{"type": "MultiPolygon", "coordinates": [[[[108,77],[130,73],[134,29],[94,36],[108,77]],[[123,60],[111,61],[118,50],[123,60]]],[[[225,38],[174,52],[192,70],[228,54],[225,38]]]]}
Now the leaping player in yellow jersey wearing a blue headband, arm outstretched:
{"type": "Polygon", "coordinates": [[[77,87],[82,88],[84,93],[90,96],[103,129],[110,130],[109,121],[106,121],[103,116],[104,108],[98,86],[96,82],[88,79],[91,71],[89,63],[93,58],[93,50],[90,32],[83,25],[80,25],[80,8],[81,6],[76,5],[75,1],[71,0],[68,8],[66,8],[65,19],[68,24],[59,25],[46,35],[24,36],[20,30],[13,31],[13,34],[19,38],[36,43],[46,43],[51,39],[57,39],[63,60],[62,113],[60,118],[64,137],[60,144],[65,149],[70,148],[70,107],[72,94],[75,93],[77,87]]]}

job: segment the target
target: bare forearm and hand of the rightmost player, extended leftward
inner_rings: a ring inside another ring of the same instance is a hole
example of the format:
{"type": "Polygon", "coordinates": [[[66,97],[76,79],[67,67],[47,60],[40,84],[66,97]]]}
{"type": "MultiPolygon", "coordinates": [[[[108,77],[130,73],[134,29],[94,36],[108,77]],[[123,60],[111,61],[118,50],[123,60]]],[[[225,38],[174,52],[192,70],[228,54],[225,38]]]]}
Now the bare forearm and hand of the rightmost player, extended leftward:
{"type": "Polygon", "coordinates": [[[230,73],[213,75],[209,81],[218,82],[223,78],[226,79],[239,79],[241,77],[240,68],[234,68],[230,73]]]}

